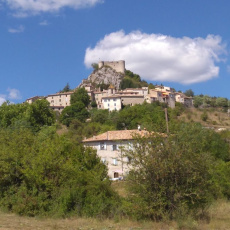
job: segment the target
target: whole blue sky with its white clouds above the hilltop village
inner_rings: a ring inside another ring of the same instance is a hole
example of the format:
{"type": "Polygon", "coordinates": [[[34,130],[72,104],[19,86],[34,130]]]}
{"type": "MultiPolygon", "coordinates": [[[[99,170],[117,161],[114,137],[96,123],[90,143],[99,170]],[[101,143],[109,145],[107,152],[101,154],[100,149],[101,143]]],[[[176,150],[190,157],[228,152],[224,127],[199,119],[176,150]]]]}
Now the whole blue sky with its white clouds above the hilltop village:
{"type": "Polygon", "coordinates": [[[92,62],[230,99],[229,0],[0,0],[0,104],[72,88],[92,62]]]}

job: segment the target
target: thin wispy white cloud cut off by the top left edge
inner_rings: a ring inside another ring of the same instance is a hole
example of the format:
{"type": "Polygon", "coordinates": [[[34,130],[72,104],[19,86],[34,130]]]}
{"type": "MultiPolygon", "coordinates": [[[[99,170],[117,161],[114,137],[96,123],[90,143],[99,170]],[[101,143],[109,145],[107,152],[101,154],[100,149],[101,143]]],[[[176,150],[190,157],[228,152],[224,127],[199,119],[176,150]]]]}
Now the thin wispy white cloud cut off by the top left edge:
{"type": "Polygon", "coordinates": [[[64,7],[74,9],[91,7],[103,0],[0,0],[11,9],[16,10],[15,16],[38,14],[41,12],[57,12],[64,7]]]}

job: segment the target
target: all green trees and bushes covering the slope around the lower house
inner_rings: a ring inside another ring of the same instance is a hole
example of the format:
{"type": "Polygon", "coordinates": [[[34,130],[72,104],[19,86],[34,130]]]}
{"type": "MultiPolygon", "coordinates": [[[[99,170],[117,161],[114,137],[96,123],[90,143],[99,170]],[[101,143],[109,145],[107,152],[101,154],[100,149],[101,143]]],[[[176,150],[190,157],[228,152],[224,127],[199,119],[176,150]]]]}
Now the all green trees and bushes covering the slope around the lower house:
{"type": "Polygon", "coordinates": [[[216,117],[218,125],[229,124],[223,105],[186,109],[176,103],[167,110],[167,133],[165,104],[90,109],[84,89],[71,103],[60,117],[45,100],[0,106],[2,209],[27,216],[195,221],[219,198],[230,198],[230,131],[203,128],[216,117]],[[132,170],[117,192],[106,165],[81,142],[138,125],[155,135],[137,136],[135,150],[124,153],[132,170]]]}

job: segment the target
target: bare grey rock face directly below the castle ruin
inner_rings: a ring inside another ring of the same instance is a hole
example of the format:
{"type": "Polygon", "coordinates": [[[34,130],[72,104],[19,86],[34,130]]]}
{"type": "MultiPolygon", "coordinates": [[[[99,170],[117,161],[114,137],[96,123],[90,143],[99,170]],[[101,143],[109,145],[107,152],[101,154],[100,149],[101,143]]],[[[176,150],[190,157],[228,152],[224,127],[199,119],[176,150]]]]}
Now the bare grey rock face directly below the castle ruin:
{"type": "Polygon", "coordinates": [[[98,84],[111,84],[116,89],[120,88],[120,83],[124,77],[124,74],[116,72],[114,69],[104,66],[98,70],[94,70],[87,79],[84,79],[78,87],[83,87],[85,84],[92,83],[98,84]]]}

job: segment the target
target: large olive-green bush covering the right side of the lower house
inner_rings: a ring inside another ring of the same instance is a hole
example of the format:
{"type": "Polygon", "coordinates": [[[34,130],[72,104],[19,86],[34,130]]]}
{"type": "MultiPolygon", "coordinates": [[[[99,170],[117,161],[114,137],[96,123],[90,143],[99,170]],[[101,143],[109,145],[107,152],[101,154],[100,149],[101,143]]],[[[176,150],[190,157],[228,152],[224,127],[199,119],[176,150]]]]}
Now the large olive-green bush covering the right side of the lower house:
{"type": "Polygon", "coordinates": [[[130,212],[137,218],[175,218],[204,210],[220,195],[215,167],[221,160],[209,137],[199,125],[184,125],[168,137],[137,137],[126,152],[131,159],[130,212]]]}

